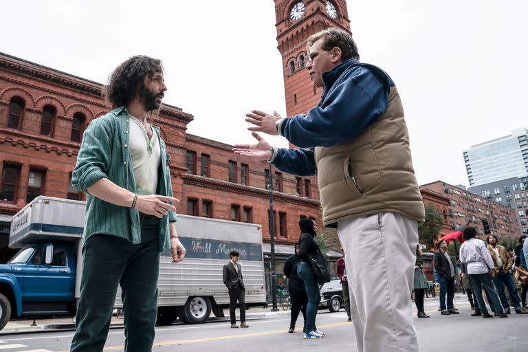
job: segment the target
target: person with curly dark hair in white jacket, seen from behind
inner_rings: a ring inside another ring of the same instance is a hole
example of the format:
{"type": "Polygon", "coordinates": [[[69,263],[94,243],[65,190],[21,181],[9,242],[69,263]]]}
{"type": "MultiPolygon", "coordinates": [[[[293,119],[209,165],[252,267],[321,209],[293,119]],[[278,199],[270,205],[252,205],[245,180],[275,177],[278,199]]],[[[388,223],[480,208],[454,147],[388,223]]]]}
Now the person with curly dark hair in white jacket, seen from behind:
{"type": "Polygon", "coordinates": [[[495,316],[507,318],[508,316],[503,312],[503,307],[500,305],[498,294],[492,282],[492,278],[495,276],[495,265],[492,256],[487,251],[484,241],[476,239],[476,233],[476,228],[472,226],[465,227],[462,231],[465,242],[460,246],[460,261],[465,263],[466,272],[470,276],[478,305],[471,315],[492,318],[492,315],[487,312],[482,296],[482,289],[484,288],[490,300],[489,304],[495,307],[495,316]]]}

